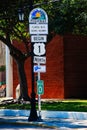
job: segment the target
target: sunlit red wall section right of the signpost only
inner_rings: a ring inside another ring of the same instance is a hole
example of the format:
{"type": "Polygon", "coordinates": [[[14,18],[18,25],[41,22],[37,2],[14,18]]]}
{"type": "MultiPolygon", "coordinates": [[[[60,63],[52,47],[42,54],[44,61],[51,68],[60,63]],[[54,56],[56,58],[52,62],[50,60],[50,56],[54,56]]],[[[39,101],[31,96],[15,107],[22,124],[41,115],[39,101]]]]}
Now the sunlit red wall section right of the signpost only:
{"type": "Polygon", "coordinates": [[[43,98],[64,98],[64,59],[63,39],[56,36],[47,45],[46,74],[42,75],[45,82],[43,98]]]}

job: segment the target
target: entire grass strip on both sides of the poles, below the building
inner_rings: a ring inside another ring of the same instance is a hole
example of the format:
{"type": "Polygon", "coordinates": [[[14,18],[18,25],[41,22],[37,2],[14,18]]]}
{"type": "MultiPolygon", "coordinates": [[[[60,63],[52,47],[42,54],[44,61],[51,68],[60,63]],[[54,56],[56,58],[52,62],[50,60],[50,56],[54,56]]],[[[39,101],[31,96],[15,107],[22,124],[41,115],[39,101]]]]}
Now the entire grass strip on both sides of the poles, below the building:
{"type": "MultiPolygon", "coordinates": [[[[30,103],[0,104],[0,109],[30,109],[30,103]]],[[[38,103],[36,103],[38,109],[38,103]]],[[[41,103],[42,110],[87,112],[87,100],[58,100],[41,103]]]]}

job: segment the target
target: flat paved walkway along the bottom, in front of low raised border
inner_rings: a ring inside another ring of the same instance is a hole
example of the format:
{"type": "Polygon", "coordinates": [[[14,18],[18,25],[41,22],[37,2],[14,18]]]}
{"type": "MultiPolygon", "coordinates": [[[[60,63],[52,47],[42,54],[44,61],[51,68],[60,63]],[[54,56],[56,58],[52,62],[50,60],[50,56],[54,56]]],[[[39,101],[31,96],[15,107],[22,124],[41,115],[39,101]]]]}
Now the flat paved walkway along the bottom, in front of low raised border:
{"type": "Polygon", "coordinates": [[[1,124],[25,125],[30,127],[50,129],[84,129],[87,130],[87,120],[46,118],[42,122],[28,122],[27,117],[0,117],[1,124]]]}

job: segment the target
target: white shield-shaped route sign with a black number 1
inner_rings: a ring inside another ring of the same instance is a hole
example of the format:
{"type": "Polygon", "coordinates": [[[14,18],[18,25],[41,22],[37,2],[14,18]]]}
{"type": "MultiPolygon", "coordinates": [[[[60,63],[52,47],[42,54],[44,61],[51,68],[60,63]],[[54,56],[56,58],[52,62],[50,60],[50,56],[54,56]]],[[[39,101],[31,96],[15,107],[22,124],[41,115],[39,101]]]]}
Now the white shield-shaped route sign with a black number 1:
{"type": "Polygon", "coordinates": [[[41,56],[41,55],[44,55],[46,53],[44,43],[34,43],[33,47],[34,47],[33,52],[35,55],[41,56]]]}

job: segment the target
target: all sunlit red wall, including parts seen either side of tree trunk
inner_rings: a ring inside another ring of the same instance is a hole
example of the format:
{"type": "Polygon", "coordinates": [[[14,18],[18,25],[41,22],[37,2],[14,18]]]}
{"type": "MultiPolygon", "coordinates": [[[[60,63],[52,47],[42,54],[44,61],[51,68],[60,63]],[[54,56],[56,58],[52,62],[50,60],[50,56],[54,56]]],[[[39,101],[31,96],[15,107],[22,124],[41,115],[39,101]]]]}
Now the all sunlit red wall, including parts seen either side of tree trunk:
{"type": "MultiPolygon", "coordinates": [[[[16,42],[16,41],[15,41],[16,42]]],[[[14,42],[14,44],[15,44],[14,42]]],[[[15,44],[18,48],[20,44],[15,44]]],[[[22,47],[23,49],[23,47],[22,47]]],[[[50,43],[46,45],[46,73],[41,73],[41,79],[44,80],[44,95],[42,98],[64,98],[64,55],[63,38],[55,36],[50,43]]],[[[28,91],[31,93],[31,58],[25,63],[28,91]]],[[[36,74],[35,74],[36,75],[36,74]]],[[[13,64],[13,93],[18,84],[17,66],[13,64]]],[[[35,82],[36,88],[36,82],[35,82]]]]}

